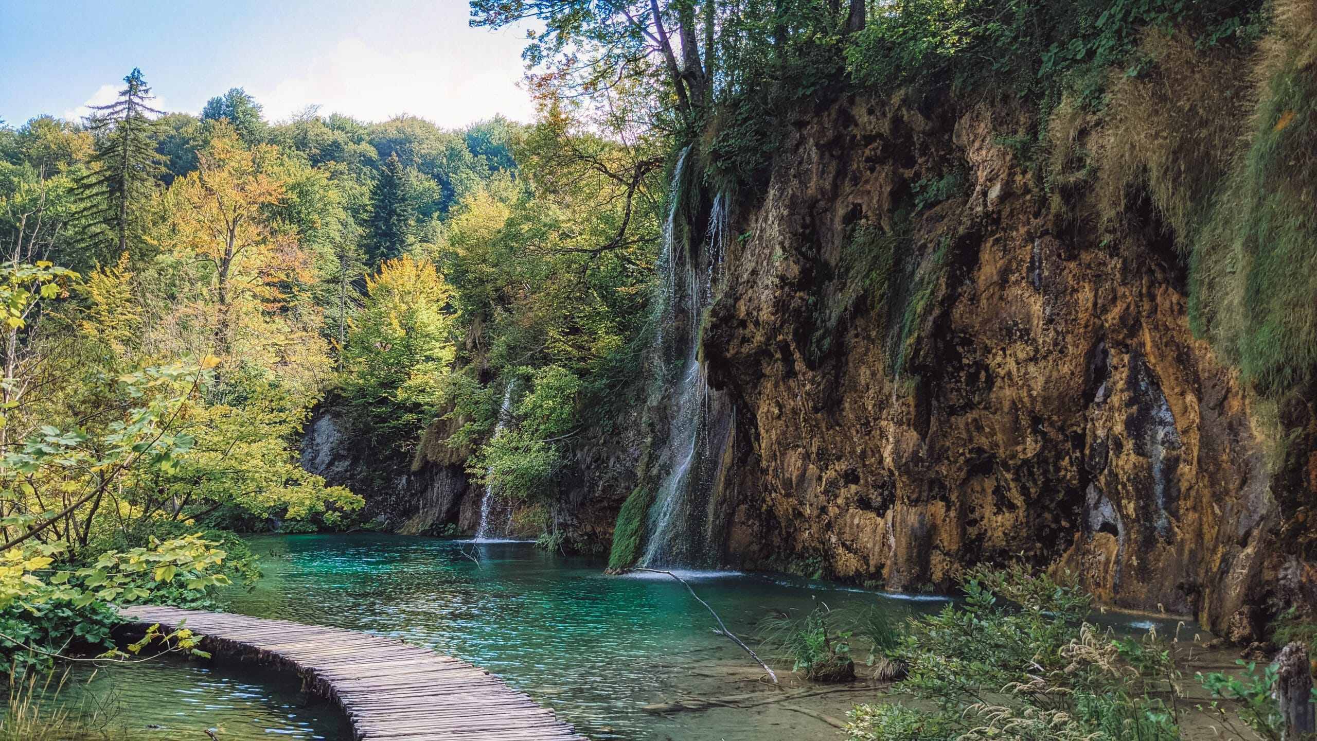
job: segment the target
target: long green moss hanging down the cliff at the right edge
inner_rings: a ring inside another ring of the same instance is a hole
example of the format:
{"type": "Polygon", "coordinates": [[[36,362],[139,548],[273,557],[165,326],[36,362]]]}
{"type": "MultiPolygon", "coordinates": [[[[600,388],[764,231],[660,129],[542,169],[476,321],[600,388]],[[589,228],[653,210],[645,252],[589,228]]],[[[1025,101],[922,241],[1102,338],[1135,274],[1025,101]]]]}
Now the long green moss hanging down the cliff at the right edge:
{"type": "Polygon", "coordinates": [[[1295,32],[1189,256],[1191,327],[1272,397],[1317,380],[1317,29],[1295,32]]]}

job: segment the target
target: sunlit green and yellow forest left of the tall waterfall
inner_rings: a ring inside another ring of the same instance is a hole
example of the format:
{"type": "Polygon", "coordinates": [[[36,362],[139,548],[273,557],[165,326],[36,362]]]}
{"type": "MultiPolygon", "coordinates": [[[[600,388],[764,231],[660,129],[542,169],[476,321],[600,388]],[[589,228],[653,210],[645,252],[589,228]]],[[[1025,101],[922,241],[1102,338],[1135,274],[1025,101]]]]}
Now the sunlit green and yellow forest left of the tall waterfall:
{"type": "Polygon", "coordinates": [[[498,384],[523,378],[527,423],[477,469],[531,497],[578,397],[620,402],[661,207],[648,140],[552,100],[533,125],[450,132],[271,124],[241,90],[162,113],[141,71],[124,82],[86,121],[0,131],[7,637],[83,636],[24,617],[38,604],[178,600],[175,567],[184,601],[249,578],[232,531],[361,526],[363,492],[298,464],[327,397],[407,460],[440,414],[462,415],[452,444],[482,440],[498,384]],[[101,552],[151,555],[108,576],[101,552]]]}

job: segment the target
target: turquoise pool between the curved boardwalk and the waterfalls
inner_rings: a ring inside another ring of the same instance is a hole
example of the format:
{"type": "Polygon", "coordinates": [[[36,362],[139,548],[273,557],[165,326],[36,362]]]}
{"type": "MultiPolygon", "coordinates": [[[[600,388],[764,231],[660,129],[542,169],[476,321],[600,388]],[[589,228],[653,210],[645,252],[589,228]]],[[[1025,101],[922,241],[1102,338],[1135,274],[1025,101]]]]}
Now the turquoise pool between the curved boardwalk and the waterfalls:
{"type": "MultiPolygon", "coordinates": [[[[232,612],[431,646],[500,675],[593,738],[732,737],[716,728],[664,732],[640,709],[673,699],[710,667],[749,663],[710,632],[709,613],[668,576],[605,576],[602,559],[551,555],[529,543],[288,535],[253,538],[253,550],[266,576],[254,592],[230,597],[232,612]]],[[[789,578],[682,576],[743,636],[774,610],[818,603],[886,605],[898,614],[939,607],[789,578]]],[[[738,691],[714,682],[715,694],[738,691]]],[[[799,737],[788,728],[740,730],[761,741],[799,737]]]]}

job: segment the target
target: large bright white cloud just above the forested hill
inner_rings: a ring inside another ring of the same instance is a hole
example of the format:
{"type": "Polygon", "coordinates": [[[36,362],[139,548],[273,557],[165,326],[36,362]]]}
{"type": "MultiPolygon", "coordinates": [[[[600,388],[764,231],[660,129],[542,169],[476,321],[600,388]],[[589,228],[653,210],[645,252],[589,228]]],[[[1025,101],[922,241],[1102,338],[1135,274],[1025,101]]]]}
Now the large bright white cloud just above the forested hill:
{"type": "Polygon", "coordinates": [[[411,113],[446,128],[495,113],[529,120],[529,95],[518,87],[520,59],[497,46],[502,45],[395,50],[344,38],[300,75],[284,78],[270,90],[248,90],[265,107],[269,120],[287,119],[307,105],[369,121],[411,113]]]}

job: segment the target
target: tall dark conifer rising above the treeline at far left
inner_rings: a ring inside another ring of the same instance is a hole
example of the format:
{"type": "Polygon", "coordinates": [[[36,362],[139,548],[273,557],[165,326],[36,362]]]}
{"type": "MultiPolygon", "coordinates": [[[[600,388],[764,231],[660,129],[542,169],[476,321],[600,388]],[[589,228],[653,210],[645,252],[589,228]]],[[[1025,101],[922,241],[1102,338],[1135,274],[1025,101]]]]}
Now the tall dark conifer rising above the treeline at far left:
{"type": "Polygon", "coordinates": [[[137,215],[150,200],[165,173],[163,157],[151,137],[155,124],[150,115],[159,111],[148,105],[151,88],[142,71],[133,69],[124,78],[128,87],[108,105],[94,105],[87,128],[96,137],[96,152],[90,171],[78,181],[79,206],[74,218],[83,227],[79,247],[87,264],[115,264],[129,251],[129,236],[137,229],[137,215]],[[109,253],[107,237],[117,241],[109,253]]]}

